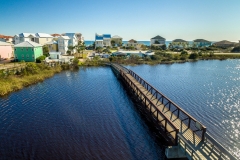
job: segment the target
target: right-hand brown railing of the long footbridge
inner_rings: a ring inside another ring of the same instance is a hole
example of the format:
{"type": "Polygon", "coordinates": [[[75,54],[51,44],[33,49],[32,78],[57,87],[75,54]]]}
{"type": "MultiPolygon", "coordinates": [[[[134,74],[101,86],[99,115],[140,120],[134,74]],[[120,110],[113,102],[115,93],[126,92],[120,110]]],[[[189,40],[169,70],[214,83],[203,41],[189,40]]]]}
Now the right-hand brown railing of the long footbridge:
{"type": "MultiPolygon", "coordinates": [[[[164,94],[159,92],[157,89],[155,89],[152,85],[150,85],[148,82],[146,82],[143,78],[141,78],[139,75],[137,75],[135,72],[128,70],[129,74],[133,76],[142,86],[144,86],[149,93],[153,95],[152,98],[155,98],[158,100],[158,102],[161,102],[162,105],[164,105],[162,112],[168,112],[171,111],[171,120],[174,121],[175,119],[179,118],[181,120],[181,126],[180,131],[184,132],[183,124],[187,127],[187,129],[191,129],[193,131],[193,140],[200,139],[200,141],[204,140],[204,134],[206,133],[206,127],[199,123],[195,118],[193,118],[191,115],[189,115],[186,111],[184,111],[182,108],[180,108],[177,104],[172,102],[170,99],[168,99],[164,94]],[[198,136],[196,138],[195,136],[198,136]]],[[[156,104],[160,105],[160,104],[156,104]]],[[[185,127],[185,128],[186,128],[185,127]]]]}

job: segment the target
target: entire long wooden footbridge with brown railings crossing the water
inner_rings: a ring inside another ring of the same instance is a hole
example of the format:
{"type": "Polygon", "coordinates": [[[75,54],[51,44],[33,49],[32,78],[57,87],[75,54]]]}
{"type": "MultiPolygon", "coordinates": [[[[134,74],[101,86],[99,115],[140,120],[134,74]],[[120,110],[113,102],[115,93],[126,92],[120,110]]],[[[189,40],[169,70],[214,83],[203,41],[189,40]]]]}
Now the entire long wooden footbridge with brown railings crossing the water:
{"type": "Polygon", "coordinates": [[[144,107],[153,125],[166,139],[165,155],[196,160],[236,160],[207,128],[130,69],[111,64],[115,75],[144,107]]]}

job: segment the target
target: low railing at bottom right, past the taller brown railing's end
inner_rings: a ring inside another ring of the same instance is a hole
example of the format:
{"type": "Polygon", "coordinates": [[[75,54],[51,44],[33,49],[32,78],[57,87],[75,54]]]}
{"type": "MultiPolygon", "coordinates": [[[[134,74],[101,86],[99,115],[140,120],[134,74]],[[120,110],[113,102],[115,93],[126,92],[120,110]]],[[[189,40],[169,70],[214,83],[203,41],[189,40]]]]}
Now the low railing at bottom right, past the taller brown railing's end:
{"type": "Polygon", "coordinates": [[[218,143],[208,133],[205,134],[204,145],[206,147],[208,147],[211,152],[214,152],[215,155],[218,155],[219,159],[237,160],[234,156],[232,156],[220,143],[218,143]]]}

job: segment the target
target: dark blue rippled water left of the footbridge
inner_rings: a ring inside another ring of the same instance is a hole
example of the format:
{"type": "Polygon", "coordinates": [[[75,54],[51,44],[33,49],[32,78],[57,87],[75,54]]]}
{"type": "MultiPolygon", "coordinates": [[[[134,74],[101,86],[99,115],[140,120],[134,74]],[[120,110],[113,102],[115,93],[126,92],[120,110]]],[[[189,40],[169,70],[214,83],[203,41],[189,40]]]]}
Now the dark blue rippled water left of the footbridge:
{"type": "Polygon", "coordinates": [[[81,68],[0,98],[0,159],[163,159],[109,67],[81,68]]]}

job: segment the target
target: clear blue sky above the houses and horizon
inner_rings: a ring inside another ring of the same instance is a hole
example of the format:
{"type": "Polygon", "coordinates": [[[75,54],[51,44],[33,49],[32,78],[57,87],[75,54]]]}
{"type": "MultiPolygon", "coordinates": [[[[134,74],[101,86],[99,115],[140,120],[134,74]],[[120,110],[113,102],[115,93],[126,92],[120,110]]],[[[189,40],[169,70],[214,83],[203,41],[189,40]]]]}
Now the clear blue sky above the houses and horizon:
{"type": "Polygon", "coordinates": [[[240,0],[0,0],[0,34],[240,40],[240,0]]]}

